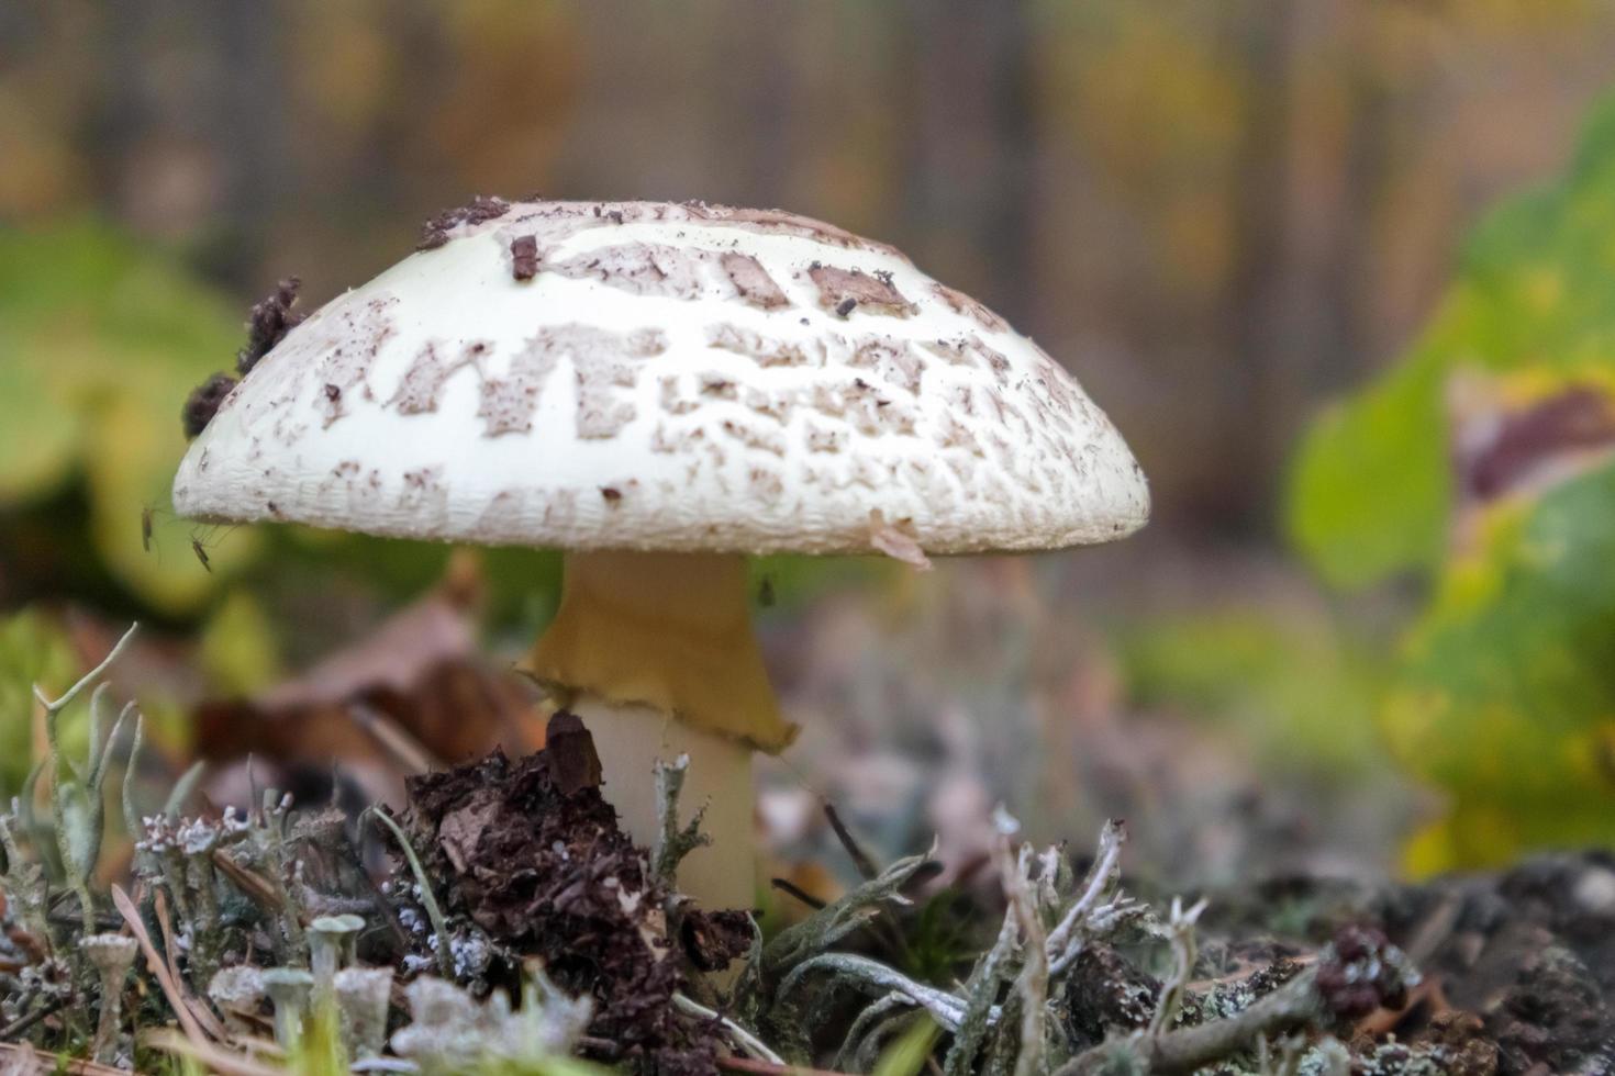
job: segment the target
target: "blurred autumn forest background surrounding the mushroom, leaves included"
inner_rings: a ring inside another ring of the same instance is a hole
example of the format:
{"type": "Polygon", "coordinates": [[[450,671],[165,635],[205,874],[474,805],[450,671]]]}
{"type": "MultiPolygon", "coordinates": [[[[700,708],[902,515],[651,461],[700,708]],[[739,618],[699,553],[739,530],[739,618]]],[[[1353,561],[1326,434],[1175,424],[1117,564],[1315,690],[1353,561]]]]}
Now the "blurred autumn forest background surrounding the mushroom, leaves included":
{"type": "Polygon", "coordinates": [[[278,277],[313,307],[472,194],[699,197],[1005,313],[1156,503],[1098,550],[759,565],[808,728],[766,773],[782,858],[820,794],[961,873],[998,800],[1126,815],[1166,878],[1609,840],[1615,497],[1554,498],[1615,486],[1612,79],[1596,0],[0,0],[5,790],[26,681],[131,616],[124,684],[218,799],[249,750],[383,794],[354,697],[446,758],[520,744],[476,653],[531,639],[554,560],[176,521],[179,403],[278,277]],[[1474,415],[1550,476],[1471,497],[1474,415]]]}

